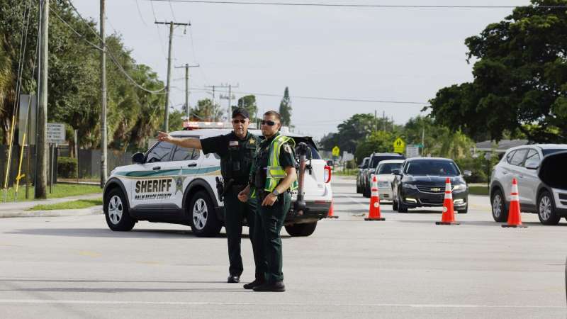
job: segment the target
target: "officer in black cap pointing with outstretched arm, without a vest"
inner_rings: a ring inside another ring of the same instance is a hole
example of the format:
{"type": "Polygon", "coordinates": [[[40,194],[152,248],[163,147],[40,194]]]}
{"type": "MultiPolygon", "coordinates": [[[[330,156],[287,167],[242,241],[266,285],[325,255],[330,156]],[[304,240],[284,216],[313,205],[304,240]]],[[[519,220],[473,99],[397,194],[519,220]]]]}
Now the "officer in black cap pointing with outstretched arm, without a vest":
{"type": "MultiPolygon", "coordinates": [[[[223,175],[225,189],[225,230],[228,239],[228,268],[229,283],[240,282],[242,256],[240,254],[240,237],[242,235],[242,221],[246,218],[249,226],[249,238],[252,242],[254,263],[256,264],[256,279],[253,282],[261,282],[266,272],[266,262],[261,254],[264,243],[259,240],[259,231],[254,222],[257,218],[256,201],[242,203],[237,195],[247,187],[250,168],[254,161],[259,140],[248,132],[249,114],[245,108],[236,108],[232,112],[232,132],[228,135],[215,136],[213,138],[173,138],[167,133],[159,132],[158,139],[181,147],[201,149],[205,154],[216,153],[220,157],[220,172],[223,175]],[[259,248],[261,247],[261,248],[259,248]]],[[[220,194],[219,194],[220,195],[220,194]]]]}

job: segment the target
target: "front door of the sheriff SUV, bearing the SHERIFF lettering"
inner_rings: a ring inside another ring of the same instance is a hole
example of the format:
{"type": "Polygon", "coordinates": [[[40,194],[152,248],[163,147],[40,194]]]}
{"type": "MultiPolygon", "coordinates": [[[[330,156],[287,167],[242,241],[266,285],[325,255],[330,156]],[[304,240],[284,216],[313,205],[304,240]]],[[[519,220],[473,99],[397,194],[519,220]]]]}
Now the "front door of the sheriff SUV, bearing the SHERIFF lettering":
{"type": "MultiPolygon", "coordinates": [[[[132,181],[130,203],[133,208],[173,203],[172,191],[175,190],[174,179],[168,167],[174,145],[169,142],[157,142],[147,152],[142,170],[136,172],[132,181]]],[[[177,170],[179,172],[179,169],[177,170]]]]}

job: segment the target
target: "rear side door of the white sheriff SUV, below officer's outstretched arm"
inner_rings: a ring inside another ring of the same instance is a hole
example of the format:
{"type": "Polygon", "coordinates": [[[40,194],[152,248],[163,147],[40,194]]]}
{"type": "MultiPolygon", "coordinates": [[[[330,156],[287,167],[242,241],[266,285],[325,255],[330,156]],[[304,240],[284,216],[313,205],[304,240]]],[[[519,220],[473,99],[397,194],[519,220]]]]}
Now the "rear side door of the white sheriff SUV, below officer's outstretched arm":
{"type": "MultiPolygon", "coordinates": [[[[188,138],[189,136],[176,136],[176,138],[188,138]]],[[[194,138],[193,136],[191,136],[194,138]]],[[[177,208],[183,208],[183,194],[185,188],[199,171],[201,162],[201,151],[194,148],[176,146],[173,150],[172,160],[164,164],[173,176],[171,202],[177,208]]]]}

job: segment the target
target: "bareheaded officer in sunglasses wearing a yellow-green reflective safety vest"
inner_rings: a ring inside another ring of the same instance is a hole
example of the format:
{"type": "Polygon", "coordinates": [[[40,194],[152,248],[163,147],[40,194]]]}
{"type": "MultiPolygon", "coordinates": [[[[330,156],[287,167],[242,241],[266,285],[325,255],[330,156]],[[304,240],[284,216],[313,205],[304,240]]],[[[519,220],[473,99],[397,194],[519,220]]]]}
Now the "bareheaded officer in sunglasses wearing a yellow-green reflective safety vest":
{"type": "MultiPolygon", "coordinates": [[[[264,113],[263,140],[256,154],[250,185],[238,198],[247,201],[257,194],[257,223],[264,234],[264,254],[267,262],[266,282],[249,288],[254,291],[285,291],[282,272],[280,231],[291,205],[291,191],[297,189],[295,142],[279,133],[281,116],[276,111],[264,113]]],[[[245,287],[247,288],[247,287],[245,287]]]]}

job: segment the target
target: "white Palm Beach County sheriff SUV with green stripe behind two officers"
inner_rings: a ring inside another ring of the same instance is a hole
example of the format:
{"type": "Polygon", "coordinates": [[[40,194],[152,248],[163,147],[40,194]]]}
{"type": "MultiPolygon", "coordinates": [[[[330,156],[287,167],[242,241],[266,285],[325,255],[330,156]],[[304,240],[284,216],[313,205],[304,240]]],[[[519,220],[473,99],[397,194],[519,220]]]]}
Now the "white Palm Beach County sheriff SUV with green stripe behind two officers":
{"type": "MultiPolygon", "coordinates": [[[[259,130],[249,130],[261,135],[259,130]]],[[[210,138],[230,133],[228,129],[184,130],[170,133],[176,138],[210,138]]],[[[305,171],[302,215],[291,210],[285,221],[292,236],[308,236],[318,220],[326,218],[332,201],[331,170],[321,159],[309,137],[284,134],[310,146],[311,159],[305,171]]],[[[191,226],[199,237],[213,237],[223,227],[223,201],[216,188],[220,178],[220,157],[203,151],[157,142],[145,153],[136,153],[133,164],[111,172],[103,190],[103,210],[111,230],[131,230],[147,220],[191,226]]],[[[296,200],[292,194],[292,201],[296,200]]]]}

